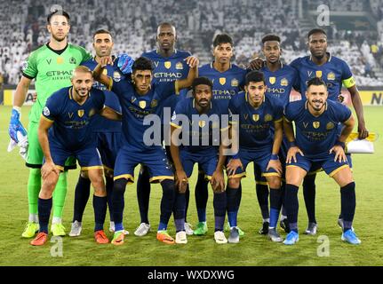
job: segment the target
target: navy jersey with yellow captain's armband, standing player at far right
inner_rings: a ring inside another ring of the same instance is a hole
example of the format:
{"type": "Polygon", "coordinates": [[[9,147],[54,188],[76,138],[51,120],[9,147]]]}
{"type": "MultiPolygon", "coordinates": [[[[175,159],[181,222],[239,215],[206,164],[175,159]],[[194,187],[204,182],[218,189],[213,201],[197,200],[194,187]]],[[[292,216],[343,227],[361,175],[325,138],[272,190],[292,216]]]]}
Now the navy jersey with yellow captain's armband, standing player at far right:
{"type": "Polygon", "coordinates": [[[299,91],[302,99],[306,100],[307,81],[319,77],[327,84],[329,99],[338,100],[342,84],[346,88],[355,85],[355,79],[347,63],[328,53],[329,59],[322,66],[316,65],[311,56],[295,59],[290,66],[299,72],[299,91]]]}

